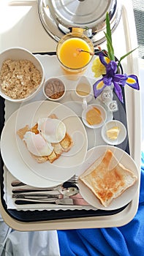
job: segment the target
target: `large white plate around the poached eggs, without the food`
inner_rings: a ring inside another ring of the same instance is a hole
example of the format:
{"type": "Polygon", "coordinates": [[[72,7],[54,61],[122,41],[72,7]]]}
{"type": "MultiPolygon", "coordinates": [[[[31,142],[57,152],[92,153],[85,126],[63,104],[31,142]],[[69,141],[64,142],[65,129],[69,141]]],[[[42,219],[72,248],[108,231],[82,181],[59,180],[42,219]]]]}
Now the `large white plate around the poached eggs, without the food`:
{"type": "Polygon", "coordinates": [[[69,179],[85,160],[87,147],[86,129],[80,118],[70,108],[57,102],[38,101],[23,105],[10,116],[1,133],[1,156],[7,169],[20,181],[26,176],[26,184],[30,184],[29,180],[34,174],[47,180],[45,184],[39,182],[36,186],[36,182],[31,179],[31,186],[36,187],[52,187],[53,184],[55,186],[56,183],[61,184],[69,179]],[[69,152],[62,154],[53,163],[39,164],[31,157],[16,132],[26,124],[33,127],[39,118],[50,116],[52,113],[64,122],[74,145],[69,152]]]}

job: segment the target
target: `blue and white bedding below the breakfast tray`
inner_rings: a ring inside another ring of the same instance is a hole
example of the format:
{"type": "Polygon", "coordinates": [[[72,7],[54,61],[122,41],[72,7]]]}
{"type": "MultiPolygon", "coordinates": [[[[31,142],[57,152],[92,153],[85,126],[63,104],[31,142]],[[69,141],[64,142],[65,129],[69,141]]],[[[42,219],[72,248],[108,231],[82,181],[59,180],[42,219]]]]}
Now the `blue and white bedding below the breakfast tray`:
{"type": "Polygon", "coordinates": [[[1,256],[143,256],[144,152],[140,200],[134,219],[122,227],[19,232],[0,218],[1,256]],[[23,245],[23,246],[22,246],[23,245]]]}

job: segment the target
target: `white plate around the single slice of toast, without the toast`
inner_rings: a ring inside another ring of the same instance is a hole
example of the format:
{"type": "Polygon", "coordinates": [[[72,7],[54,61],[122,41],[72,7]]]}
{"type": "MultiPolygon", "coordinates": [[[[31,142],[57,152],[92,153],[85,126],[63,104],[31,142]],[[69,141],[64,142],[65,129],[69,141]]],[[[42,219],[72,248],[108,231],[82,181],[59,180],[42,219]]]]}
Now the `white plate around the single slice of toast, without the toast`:
{"type": "Polygon", "coordinates": [[[80,176],[82,173],[84,173],[96,159],[102,157],[102,155],[105,154],[105,151],[107,151],[107,149],[113,151],[113,154],[115,155],[116,159],[118,159],[118,161],[121,162],[122,165],[124,165],[129,170],[132,170],[134,175],[137,176],[137,181],[134,183],[132,187],[126,189],[119,197],[113,199],[113,201],[110,203],[110,206],[105,207],[102,206],[102,204],[99,202],[99,199],[96,198],[93,192],[91,192],[91,190],[88,189],[88,187],[86,187],[86,185],[79,180],[80,194],[83,196],[83,198],[88,203],[90,203],[91,206],[94,206],[105,211],[114,210],[126,206],[126,204],[129,203],[134,198],[134,195],[137,192],[139,184],[139,173],[137,165],[135,164],[134,160],[132,159],[132,157],[129,156],[129,154],[127,154],[121,148],[117,148],[115,146],[96,146],[94,148],[91,148],[86,155],[86,161],[83,162],[83,165],[81,165],[81,168],[77,172],[77,175],[80,176]]]}

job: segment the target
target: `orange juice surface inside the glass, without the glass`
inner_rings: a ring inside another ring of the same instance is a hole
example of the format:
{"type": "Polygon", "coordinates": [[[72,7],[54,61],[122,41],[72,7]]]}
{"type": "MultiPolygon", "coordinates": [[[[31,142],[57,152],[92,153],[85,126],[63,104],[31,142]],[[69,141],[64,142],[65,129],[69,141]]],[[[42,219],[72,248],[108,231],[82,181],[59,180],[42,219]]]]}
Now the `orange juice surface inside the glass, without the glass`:
{"type": "Polygon", "coordinates": [[[81,38],[73,37],[61,44],[59,59],[61,63],[70,69],[80,69],[85,67],[91,60],[89,53],[79,52],[77,48],[91,51],[88,43],[81,38]]]}

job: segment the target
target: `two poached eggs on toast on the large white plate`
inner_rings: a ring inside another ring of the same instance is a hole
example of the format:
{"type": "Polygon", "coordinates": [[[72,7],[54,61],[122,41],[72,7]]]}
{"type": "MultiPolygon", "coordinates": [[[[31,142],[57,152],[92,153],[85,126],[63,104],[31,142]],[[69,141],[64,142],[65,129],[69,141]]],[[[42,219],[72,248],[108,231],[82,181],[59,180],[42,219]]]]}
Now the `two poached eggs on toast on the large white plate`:
{"type": "Polygon", "coordinates": [[[72,138],[67,133],[65,124],[55,114],[48,118],[39,118],[33,127],[18,130],[18,136],[26,144],[31,156],[42,163],[51,163],[65,151],[72,148],[72,138]]]}

